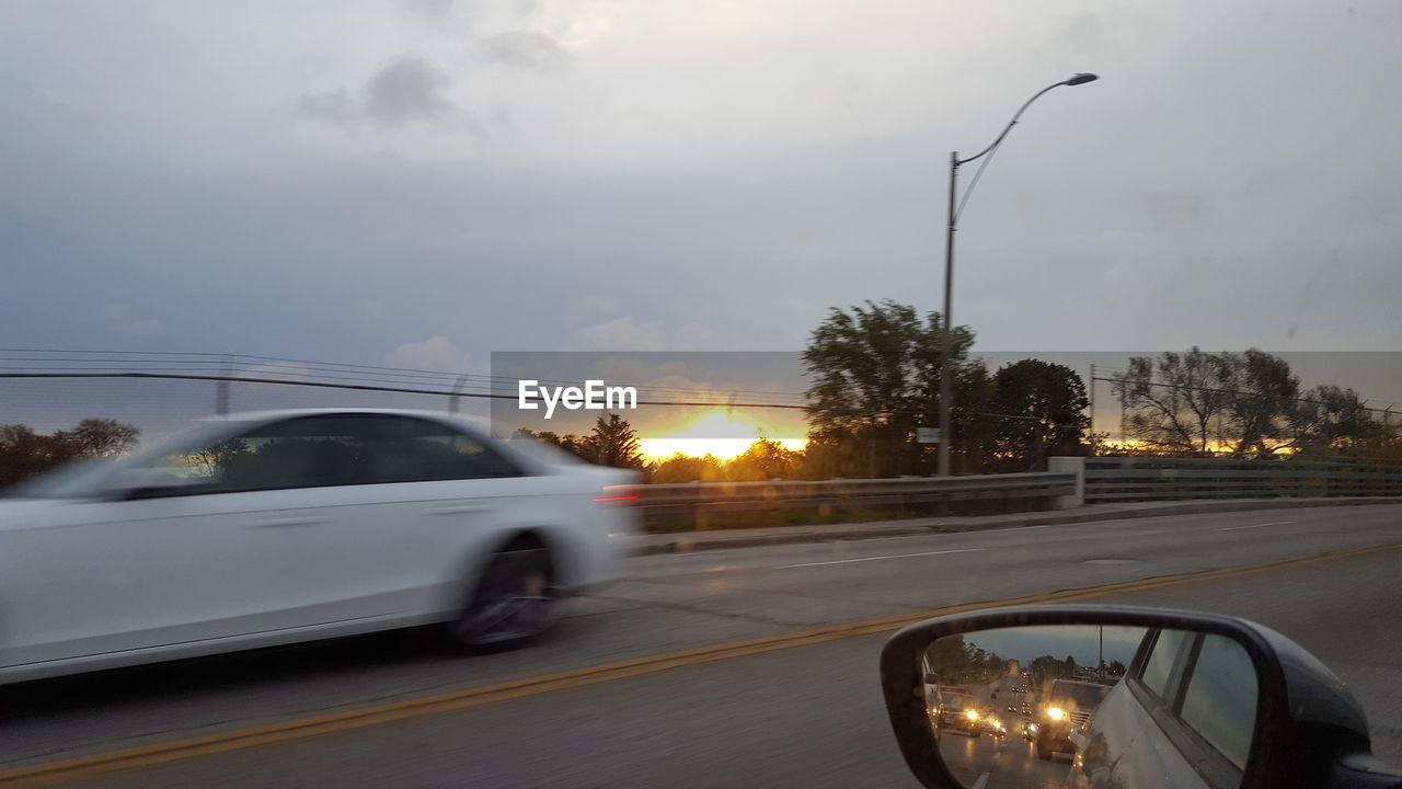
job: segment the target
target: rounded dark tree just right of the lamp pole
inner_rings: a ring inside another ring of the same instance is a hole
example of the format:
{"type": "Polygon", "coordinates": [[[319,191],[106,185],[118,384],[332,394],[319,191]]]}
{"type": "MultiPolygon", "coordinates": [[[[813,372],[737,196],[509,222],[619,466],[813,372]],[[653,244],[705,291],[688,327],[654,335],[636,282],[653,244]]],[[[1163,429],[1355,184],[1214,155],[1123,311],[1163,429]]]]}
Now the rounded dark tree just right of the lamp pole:
{"type": "Polygon", "coordinates": [[[990,409],[1000,414],[993,437],[994,470],[1042,469],[1050,455],[1085,453],[1091,402],[1075,371],[1022,359],[998,369],[993,385],[990,409]]]}

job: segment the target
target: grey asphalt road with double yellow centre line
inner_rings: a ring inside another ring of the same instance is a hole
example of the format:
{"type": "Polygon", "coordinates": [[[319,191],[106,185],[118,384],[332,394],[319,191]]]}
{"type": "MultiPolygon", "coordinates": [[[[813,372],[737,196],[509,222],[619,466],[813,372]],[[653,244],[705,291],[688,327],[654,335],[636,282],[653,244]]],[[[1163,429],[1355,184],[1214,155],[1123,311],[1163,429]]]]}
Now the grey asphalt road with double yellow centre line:
{"type": "MultiPolygon", "coordinates": [[[[1294,637],[1353,688],[1375,751],[1402,762],[1402,550],[1124,585],[1389,543],[1395,505],[639,557],[515,653],[461,657],[409,632],[0,688],[0,786],[66,760],[77,767],[39,783],[914,786],[876,684],[890,629],[1106,584],[1120,585],[1082,599],[1242,615],[1294,637]]],[[[1023,743],[1007,745],[1014,765],[1023,743]]]]}

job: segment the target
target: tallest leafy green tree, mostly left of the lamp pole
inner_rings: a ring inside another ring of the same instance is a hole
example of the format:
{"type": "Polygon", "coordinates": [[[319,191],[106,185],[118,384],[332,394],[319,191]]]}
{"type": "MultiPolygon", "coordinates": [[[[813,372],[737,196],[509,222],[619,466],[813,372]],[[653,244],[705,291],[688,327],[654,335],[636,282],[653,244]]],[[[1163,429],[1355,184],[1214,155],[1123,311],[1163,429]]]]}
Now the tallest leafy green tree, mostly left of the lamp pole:
{"type": "MultiPolygon", "coordinates": [[[[886,299],[850,312],[831,309],[803,351],[810,442],[840,476],[897,476],[927,472],[934,451],[914,441],[917,427],[934,427],[944,364],[939,313],[924,320],[914,307],[886,299]]],[[[979,387],[987,385],[981,362],[967,361],[973,331],[953,331],[955,378],[962,410],[980,410],[979,387]],[[970,387],[969,392],[965,392],[970,387]],[[967,394],[967,397],[965,396],[967,394]],[[970,404],[976,407],[970,407],[970,404]]],[[[959,413],[955,414],[958,420],[959,413]]],[[[956,423],[967,428],[967,423],[956,423]]],[[[956,430],[956,435],[962,431],[956,430]]],[[[956,444],[967,449],[969,442],[956,444]]]]}

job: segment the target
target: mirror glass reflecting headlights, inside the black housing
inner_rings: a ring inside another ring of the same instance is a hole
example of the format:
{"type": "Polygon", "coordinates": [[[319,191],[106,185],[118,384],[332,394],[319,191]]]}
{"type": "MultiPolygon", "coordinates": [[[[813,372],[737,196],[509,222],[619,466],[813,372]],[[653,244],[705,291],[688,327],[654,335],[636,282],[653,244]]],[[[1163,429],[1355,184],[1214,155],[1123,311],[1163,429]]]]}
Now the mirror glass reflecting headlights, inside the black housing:
{"type": "Polygon", "coordinates": [[[1251,751],[1255,667],[1227,636],[1004,628],[942,637],[920,668],[930,733],[970,789],[1234,786],[1251,751]]]}

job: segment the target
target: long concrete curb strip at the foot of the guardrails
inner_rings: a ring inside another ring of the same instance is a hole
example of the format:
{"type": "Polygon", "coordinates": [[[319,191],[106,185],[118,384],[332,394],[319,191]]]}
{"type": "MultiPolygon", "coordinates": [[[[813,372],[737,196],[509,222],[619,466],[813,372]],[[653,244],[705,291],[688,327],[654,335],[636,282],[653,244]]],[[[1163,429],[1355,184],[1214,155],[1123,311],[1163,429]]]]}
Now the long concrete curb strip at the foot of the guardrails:
{"type": "Polygon", "coordinates": [[[1399,497],[1361,498],[1246,498],[1230,501],[1173,501],[1162,504],[1101,504],[1075,510],[1046,512],[1015,512],[977,518],[911,518],[908,521],[880,521],[873,524],[844,524],[837,526],[771,526],[763,529],[716,529],[704,532],[674,532],[642,535],[634,556],[663,553],[691,553],[730,548],[761,548],[770,545],[799,545],[855,539],[882,539],[930,533],[958,533],[1019,526],[1059,524],[1089,524],[1127,518],[1157,518],[1164,515],[1196,515],[1203,512],[1242,512],[1251,510],[1295,510],[1301,507],[1360,507],[1367,504],[1402,504],[1399,497]]]}

